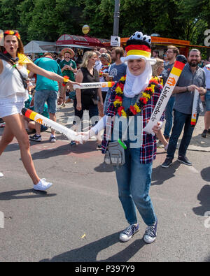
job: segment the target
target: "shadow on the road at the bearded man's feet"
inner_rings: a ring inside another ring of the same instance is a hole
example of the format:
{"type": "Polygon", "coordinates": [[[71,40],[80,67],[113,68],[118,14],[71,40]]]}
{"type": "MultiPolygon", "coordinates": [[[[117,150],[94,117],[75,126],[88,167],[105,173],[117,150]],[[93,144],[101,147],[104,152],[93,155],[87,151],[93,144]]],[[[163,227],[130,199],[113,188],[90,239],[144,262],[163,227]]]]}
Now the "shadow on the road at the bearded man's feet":
{"type": "Polygon", "coordinates": [[[152,185],[161,185],[165,181],[174,177],[174,173],[179,166],[179,161],[175,161],[171,166],[169,166],[169,168],[162,168],[161,166],[153,168],[152,185]]]}

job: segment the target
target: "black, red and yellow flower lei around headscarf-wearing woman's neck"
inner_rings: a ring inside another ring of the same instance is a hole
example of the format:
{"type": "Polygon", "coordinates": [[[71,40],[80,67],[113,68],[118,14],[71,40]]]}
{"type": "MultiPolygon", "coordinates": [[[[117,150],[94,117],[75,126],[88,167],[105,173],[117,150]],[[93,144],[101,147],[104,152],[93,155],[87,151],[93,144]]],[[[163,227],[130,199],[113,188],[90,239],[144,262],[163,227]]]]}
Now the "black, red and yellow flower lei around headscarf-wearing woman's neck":
{"type": "Polygon", "coordinates": [[[129,117],[137,115],[137,113],[141,112],[142,108],[146,105],[148,99],[151,99],[151,96],[155,93],[155,85],[160,83],[160,78],[152,77],[149,81],[148,87],[142,92],[139,101],[134,104],[134,106],[130,106],[125,111],[123,104],[123,89],[125,85],[126,75],[120,78],[119,82],[116,85],[116,97],[113,105],[117,108],[117,112],[120,116],[129,117]]]}

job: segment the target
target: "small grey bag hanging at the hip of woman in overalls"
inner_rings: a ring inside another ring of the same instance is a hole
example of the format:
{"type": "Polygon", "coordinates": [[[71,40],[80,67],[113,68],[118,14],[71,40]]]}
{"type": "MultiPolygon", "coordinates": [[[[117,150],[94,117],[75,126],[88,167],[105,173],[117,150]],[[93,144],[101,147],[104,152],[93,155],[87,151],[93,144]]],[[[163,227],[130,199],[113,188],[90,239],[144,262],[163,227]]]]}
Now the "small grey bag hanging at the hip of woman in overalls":
{"type": "Polygon", "coordinates": [[[125,150],[127,149],[124,142],[118,141],[109,142],[104,157],[104,162],[112,166],[123,166],[125,164],[125,150]]]}

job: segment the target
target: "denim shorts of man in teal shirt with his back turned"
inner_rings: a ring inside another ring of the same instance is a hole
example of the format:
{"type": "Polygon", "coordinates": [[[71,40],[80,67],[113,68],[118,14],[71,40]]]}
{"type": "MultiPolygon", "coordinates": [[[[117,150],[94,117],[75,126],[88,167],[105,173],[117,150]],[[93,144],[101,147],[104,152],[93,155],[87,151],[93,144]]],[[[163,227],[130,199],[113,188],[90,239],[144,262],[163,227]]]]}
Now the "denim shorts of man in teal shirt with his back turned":
{"type": "Polygon", "coordinates": [[[38,90],[34,94],[34,111],[43,113],[45,101],[48,103],[48,112],[55,114],[57,103],[57,91],[38,90]]]}

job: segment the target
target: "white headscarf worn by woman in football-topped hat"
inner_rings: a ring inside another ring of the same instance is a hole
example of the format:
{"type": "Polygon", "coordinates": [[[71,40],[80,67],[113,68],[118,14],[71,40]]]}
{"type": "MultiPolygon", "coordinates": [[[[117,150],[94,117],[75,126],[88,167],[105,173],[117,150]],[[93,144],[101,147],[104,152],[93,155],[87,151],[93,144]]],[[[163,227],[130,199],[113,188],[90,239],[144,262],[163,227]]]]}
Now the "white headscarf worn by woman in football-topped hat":
{"type": "Polygon", "coordinates": [[[127,75],[124,86],[124,94],[127,98],[133,98],[140,94],[148,86],[149,80],[152,77],[151,62],[146,60],[144,72],[141,75],[133,75],[127,66],[127,75]]]}

